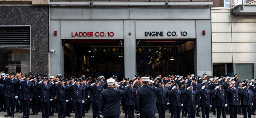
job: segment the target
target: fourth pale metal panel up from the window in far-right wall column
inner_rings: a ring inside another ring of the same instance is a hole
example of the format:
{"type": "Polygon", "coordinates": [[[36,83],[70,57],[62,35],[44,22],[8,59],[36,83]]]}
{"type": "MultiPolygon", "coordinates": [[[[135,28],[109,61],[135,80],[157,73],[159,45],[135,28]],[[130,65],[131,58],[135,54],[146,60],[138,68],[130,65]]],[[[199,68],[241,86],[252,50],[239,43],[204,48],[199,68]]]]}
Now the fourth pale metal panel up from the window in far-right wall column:
{"type": "Polygon", "coordinates": [[[232,32],[256,32],[256,23],[232,23],[232,32]]]}

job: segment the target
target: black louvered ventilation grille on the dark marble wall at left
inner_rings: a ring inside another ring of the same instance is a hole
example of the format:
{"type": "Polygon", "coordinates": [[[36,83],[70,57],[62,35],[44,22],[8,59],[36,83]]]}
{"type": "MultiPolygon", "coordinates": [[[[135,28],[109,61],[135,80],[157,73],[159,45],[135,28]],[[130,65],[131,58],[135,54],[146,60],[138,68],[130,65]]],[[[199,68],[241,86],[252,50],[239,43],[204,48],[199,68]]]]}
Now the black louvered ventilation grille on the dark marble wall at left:
{"type": "Polygon", "coordinates": [[[30,27],[0,27],[0,46],[29,46],[30,45],[30,27]]]}

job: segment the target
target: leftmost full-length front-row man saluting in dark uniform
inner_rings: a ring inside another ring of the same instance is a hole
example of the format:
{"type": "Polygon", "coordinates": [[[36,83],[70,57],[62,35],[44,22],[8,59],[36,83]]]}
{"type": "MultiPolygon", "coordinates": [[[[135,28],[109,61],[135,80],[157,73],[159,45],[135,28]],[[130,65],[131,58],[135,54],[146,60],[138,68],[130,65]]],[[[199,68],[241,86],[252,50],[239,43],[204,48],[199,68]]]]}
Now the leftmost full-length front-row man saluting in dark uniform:
{"type": "MultiPolygon", "coordinates": [[[[14,72],[9,72],[9,75],[14,75],[14,74],[15,74],[14,72]]],[[[14,117],[14,106],[15,106],[14,98],[15,96],[18,96],[18,93],[19,93],[19,87],[15,86],[15,83],[17,81],[18,80],[15,78],[6,78],[5,80],[4,78],[0,79],[0,83],[5,83],[4,96],[5,96],[5,105],[6,105],[6,111],[7,111],[7,115],[5,115],[5,117],[7,116],[14,117]]]]}

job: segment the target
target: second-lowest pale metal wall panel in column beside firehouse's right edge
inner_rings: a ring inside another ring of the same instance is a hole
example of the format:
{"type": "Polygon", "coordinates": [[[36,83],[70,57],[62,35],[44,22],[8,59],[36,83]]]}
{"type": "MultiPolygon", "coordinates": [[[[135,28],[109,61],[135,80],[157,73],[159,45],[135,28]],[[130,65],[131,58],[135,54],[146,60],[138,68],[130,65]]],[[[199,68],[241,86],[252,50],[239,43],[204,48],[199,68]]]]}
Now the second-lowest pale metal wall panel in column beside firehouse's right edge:
{"type": "Polygon", "coordinates": [[[232,43],[212,43],[212,52],[232,52],[232,43]]]}

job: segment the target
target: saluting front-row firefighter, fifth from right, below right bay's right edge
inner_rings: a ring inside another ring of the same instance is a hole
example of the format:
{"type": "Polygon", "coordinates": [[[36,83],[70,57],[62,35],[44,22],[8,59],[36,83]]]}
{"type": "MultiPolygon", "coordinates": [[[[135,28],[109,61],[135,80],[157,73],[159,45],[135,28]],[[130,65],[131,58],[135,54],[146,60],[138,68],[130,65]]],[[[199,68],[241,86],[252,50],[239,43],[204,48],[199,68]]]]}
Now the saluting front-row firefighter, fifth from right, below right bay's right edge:
{"type": "MultiPolygon", "coordinates": [[[[192,84],[190,84],[189,87],[193,87],[192,84]]],[[[185,107],[187,108],[187,114],[188,118],[195,118],[196,115],[196,106],[197,106],[197,91],[185,89],[182,91],[182,94],[185,94],[187,97],[187,100],[185,102],[185,107]]]]}

